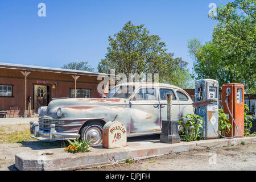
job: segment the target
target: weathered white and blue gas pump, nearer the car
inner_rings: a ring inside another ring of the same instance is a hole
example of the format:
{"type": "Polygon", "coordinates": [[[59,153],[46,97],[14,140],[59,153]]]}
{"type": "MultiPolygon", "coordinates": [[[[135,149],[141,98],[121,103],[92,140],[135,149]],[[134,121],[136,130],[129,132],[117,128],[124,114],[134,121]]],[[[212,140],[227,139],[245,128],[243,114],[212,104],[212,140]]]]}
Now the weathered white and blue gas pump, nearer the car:
{"type": "Polygon", "coordinates": [[[204,79],[195,84],[195,114],[204,119],[201,137],[218,138],[218,81],[204,79]]]}

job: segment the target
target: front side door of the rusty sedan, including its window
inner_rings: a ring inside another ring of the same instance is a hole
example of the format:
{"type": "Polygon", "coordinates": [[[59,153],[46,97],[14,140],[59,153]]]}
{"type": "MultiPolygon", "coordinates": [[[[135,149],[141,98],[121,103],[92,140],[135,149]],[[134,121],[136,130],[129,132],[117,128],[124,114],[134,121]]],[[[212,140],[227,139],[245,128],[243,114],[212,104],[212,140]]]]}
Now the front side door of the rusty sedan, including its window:
{"type": "Polygon", "coordinates": [[[157,87],[142,87],[130,101],[130,133],[160,131],[160,106],[157,87]]]}

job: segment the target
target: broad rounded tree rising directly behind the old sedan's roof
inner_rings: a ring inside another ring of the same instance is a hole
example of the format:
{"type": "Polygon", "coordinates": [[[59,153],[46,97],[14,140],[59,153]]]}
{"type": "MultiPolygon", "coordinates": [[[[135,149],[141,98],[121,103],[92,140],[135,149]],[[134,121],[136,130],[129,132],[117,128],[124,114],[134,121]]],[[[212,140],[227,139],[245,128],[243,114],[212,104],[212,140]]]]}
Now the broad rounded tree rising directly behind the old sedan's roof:
{"type": "Polygon", "coordinates": [[[161,42],[158,35],[150,35],[144,24],[137,26],[127,22],[108,40],[108,52],[98,64],[98,72],[110,73],[110,69],[114,69],[115,74],[123,73],[127,78],[129,73],[158,73],[160,82],[170,81],[172,84],[177,78],[174,71],[180,68],[182,72],[187,67],[187,62],[174,59],[174,54],[167,52],[166,43],[161,42]]]}

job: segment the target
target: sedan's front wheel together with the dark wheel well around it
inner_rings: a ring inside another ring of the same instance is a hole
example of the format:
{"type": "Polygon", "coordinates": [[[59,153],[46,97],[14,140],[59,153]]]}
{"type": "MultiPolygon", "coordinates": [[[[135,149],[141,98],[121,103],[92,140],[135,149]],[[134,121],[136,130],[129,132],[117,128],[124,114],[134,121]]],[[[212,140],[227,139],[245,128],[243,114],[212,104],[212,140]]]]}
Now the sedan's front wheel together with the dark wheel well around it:
{"type": "Polygon", "coordinates": [[[90,144],[96,145],[102,143],[103,125],[100,122],[91,122],[86,124],[81,130],[81,138],[90,141],[90,144]]]}

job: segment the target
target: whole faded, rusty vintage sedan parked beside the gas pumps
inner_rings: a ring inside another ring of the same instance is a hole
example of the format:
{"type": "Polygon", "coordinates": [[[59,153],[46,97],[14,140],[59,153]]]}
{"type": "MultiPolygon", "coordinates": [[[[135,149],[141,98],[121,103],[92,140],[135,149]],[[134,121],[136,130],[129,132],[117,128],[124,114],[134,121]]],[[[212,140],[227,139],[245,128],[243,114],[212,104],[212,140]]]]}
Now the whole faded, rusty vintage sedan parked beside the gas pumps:
{"type": "Polygon", "coordinates": [[[39,122],[31,122],[31,134],[56,140],[102,142],[106,122],[125,124],[127,137],[160,134],[167,120],[167,94],[172,94],[172,119],[193,114],[192,100],[181,88],[160,83],[128,82],[115,86],[106,98],[59,98],[39,108],[39,122]]]}

